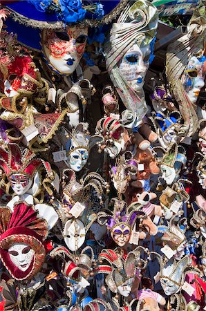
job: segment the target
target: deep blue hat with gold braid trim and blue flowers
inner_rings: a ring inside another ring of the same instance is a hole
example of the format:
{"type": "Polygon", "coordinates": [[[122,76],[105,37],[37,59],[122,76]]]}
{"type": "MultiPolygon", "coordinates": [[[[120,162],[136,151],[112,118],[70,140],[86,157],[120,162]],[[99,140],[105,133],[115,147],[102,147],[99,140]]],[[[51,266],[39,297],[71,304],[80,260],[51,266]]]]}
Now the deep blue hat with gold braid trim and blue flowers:
{"type": "Polygon", "coordinates": [[[17,34],[18,41],[32,48],[41,50],[41,29],[58,30],[66,24],[84,23],[98,26],[109,23],[117,17],[126,0],[1,0],[1,8],[7,8],[10,16],[6,19],[8,32],[17,34]]]}

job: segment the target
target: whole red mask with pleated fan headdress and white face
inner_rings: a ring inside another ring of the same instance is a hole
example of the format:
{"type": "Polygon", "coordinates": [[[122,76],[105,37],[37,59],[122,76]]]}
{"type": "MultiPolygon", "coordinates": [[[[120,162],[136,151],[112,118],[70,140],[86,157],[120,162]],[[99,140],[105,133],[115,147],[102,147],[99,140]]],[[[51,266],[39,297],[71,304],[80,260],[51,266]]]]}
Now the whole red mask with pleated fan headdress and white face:
{"type": "Polygon", "coordinates": [[[48,234],[46,220],[38,218],[35,207],[17,202],[13,213],[1,209],[0,256],[3,265],[16,280],[32,279],[45,259],[42,244],[48,234]]]}

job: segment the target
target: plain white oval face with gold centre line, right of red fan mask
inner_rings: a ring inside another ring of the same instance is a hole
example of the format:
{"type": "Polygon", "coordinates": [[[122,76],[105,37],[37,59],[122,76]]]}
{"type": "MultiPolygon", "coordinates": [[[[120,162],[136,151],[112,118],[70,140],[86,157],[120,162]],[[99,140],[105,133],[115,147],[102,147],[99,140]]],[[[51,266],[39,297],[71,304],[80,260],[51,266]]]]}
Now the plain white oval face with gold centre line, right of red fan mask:
{"type": "Polygon", "coordinates": [[[76,251],[84,244],[86,230],[79,219],[70,219],[64,226],[64,241],[71,251],[76,251]]]}

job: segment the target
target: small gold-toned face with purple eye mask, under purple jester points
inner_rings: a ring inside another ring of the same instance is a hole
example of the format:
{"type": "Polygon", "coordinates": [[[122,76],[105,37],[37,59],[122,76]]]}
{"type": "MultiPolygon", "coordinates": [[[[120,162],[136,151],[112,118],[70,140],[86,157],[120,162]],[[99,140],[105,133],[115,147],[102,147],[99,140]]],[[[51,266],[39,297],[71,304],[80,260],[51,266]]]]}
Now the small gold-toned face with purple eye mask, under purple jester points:
{"type": "Polygon", "coordinates": [[[119,224],[111,230],[111,237],[113,238],[113,241],[117,243],[120,247],[124,246],[129,242],[129,238],[131,235],[131,229],[129,225],[126,225],[124,223],[119,224]]]}

